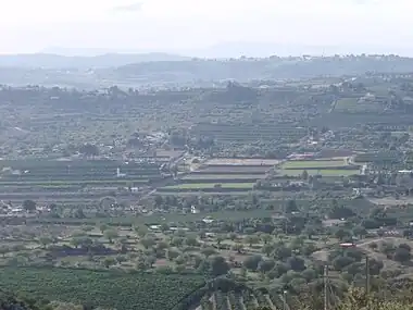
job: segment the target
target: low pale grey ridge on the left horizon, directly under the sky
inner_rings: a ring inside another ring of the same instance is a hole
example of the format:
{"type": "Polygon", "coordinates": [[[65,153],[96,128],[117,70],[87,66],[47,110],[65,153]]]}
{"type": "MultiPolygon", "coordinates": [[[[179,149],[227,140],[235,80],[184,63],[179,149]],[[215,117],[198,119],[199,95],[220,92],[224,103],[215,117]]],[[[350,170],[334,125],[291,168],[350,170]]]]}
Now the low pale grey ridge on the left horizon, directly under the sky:
{"type": "Polygon", "coordinates": [[[170,53],[105,53],[100,55],[60,55],[53,53],[0,55],[0,66],[42,69],[116,67],[130,63],[185,61],[189,57],[170,53]]]}

